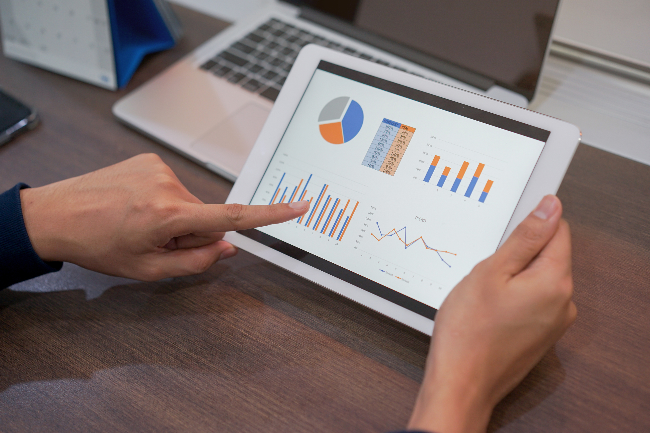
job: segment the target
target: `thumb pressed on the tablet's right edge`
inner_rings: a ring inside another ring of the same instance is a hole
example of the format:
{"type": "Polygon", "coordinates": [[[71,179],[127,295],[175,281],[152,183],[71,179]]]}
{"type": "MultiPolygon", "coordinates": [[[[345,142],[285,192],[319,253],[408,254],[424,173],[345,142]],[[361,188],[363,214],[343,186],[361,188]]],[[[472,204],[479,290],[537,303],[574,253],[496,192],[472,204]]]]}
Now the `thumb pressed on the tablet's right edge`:
{"type": "Polygon", "coordinates": [[[539,254],[558,230],[562,203],[554,195],[547,195],[526,219],[510,234],[494,254],[497,269],[515,275],[539,254]]]}

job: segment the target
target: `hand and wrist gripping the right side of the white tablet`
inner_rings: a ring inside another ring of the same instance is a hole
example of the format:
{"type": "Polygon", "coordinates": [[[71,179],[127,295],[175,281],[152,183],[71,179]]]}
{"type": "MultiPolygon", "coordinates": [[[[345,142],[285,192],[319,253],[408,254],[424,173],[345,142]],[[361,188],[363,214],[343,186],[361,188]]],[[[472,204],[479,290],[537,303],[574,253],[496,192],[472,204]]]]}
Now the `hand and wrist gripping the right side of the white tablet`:
{"type": "Polygon", "coordinates": [[[485,432],[494,406],[573,323],[571,235],[547,195],[435,317],[409,428],[485,432]]]}

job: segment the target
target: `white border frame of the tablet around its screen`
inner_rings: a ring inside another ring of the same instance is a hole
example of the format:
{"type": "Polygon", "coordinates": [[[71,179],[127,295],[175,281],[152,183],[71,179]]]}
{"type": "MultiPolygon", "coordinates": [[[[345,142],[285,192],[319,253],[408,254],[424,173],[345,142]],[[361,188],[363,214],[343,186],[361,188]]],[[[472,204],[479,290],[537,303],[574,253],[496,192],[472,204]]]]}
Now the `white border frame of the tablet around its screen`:
{"type": "MultiPolygon", "coordinates": [[[[580,130],[571,123],[532,112],[525,108],[502,103],[476,93],[440,84],[439,82],[416,77],[406,72],[345,55],[318,45],[306,45],[300,51],[300,55],[298,55],[291,73],[289,73],[289,77],[287,77],[287,81],[282,87],[278,99],[257,138],[257,142],[255,142],[248,160],[246,160],[246,164],[242,168],[239,179],[237,179],[228,195],[226,203],[250,203],[321,60],[551,131],[499,246],[535,208],[544,195],[557,192],[580,142],[580,130]]],[[[433,332],[434,321],[431,319],[324,271],[320,271],[320,269],[300,262],[300,260],[280,253],[242,234],[229,232],[224,240],[411,328],[429,335],[433,332]]]]}

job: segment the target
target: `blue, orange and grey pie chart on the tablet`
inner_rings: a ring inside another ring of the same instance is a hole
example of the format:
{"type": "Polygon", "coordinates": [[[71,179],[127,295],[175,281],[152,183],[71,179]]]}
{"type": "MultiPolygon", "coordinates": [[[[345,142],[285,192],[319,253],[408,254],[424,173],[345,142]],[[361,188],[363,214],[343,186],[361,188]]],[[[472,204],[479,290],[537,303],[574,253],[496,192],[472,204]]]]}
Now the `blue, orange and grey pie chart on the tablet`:
{"type": "Polygon", "coordinates": [[[347,143],[356,137],[363,125],[361,105],[348,96],[328,102],[318,116],[320,135],[332,144],[347,143]]]}

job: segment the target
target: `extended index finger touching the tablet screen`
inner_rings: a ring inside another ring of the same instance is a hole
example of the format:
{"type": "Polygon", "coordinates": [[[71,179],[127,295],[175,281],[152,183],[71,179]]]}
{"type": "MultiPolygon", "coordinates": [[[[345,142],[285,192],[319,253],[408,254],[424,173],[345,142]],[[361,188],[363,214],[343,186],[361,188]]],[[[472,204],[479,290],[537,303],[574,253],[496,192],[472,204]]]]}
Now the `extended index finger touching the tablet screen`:
{"type": "Polygon", "coordinates": [[[300,217],[309,210],[309,201],[262,204],[184,204],[179,231],[231,232],[279,224],[300,217]]]}

